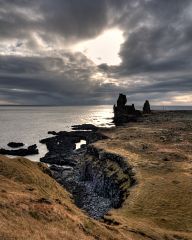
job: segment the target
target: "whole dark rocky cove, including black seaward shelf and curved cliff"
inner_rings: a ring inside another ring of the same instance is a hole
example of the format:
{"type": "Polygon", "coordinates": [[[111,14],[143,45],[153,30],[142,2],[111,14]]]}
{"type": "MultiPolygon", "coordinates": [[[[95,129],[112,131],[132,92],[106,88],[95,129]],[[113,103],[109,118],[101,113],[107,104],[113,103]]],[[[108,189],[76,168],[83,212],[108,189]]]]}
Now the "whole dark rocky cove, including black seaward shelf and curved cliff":
{"type": "Polygon", "coordinates": [[[48,148],[40,161],[49,164],[51,176],[73,195],[75,204],[95,219],[121,207],[136,180],[126,159],[94,147],[94,142],[107,137],[90,124],[49,133],[54,137],[40,141],[48,148]],[[82,139],[86,144],[75,149],[82,139]]]}

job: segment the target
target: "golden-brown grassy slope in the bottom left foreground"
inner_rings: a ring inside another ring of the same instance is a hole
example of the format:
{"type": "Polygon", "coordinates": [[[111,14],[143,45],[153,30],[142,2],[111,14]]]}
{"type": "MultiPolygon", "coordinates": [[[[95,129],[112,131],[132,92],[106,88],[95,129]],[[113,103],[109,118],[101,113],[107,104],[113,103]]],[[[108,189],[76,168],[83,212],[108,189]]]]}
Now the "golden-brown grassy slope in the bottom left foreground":
{"type": "Polygon", "coordinates": [[[24,158],[0,157],[1,240],[118,239],[83,214],[45,170],[24,158]]]}

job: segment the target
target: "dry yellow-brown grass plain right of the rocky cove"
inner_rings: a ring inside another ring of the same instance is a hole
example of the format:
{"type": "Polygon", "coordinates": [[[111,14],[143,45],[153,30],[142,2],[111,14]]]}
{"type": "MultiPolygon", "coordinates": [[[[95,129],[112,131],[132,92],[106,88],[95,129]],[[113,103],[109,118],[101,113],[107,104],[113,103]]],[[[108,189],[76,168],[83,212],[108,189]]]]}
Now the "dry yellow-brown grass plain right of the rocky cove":
{"type": "MultiPolygon", "coordinates": [[[[127,157],[138,184],[112,217],[152,239],[192,239],[192,113],[105,130],[95,145],[127,157]]],[[[135,238],[134,238],[135,239],[135,238]]]]}

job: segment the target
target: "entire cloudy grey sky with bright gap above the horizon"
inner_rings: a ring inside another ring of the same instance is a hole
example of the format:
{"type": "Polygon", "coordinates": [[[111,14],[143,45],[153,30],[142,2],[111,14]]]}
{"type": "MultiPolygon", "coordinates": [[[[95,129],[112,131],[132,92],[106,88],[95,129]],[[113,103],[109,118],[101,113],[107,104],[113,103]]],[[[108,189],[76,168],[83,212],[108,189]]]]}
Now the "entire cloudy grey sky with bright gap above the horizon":
{"type": "Polygon", "coordinates": [[[192,105],[191,0],[0,0],[0,104],[192,105]]]}

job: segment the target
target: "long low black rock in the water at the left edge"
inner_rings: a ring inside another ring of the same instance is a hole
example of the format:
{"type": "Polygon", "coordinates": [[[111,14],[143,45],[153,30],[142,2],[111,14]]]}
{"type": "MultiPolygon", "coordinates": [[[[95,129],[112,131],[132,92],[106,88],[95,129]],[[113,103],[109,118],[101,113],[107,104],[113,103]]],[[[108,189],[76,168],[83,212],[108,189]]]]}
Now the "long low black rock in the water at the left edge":
{"type": "Polygon", "coordinates": [[[37,145],[31,145],[28,148],[20,148],[16,150],[7,150],[4,148],[0,149],[0,154],[3,155],[12,155],[12,156],[28,156],[39,154],[39,150],[37,149],[37,145]]]}

